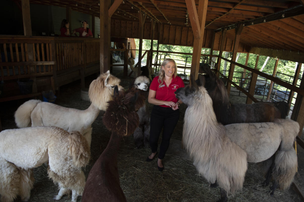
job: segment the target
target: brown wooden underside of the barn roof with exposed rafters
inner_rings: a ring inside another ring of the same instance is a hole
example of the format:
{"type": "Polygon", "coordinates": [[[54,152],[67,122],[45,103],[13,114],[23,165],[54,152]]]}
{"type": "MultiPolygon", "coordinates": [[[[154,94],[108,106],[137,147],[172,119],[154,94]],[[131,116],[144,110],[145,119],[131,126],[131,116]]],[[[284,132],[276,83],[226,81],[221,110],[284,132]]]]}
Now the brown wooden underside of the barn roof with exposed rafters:
{"type": "MultiPolygon", "coordinates": [[[[191,27],[186,2],[191,0],[124,0],[112,20],[139,21],[138,12],[162,25],[191,27]]],[[[198,8],[199,0],[195,0],[198,8]]],[[[226,37],[235,38],[238,23],[244,26],[240,42],[249,47],[304,52],[303,0],[209,0],[205,29],[227,29],[226,37]]],[[[69,6],[72,10],[99,16],[98,0],[30,0],[33,4],[69,6]]],[[[134,37],[136,38],[136,37],[134,37]]],[[[179,45],[179,44],[177,44],[179,45]]]]}

